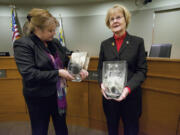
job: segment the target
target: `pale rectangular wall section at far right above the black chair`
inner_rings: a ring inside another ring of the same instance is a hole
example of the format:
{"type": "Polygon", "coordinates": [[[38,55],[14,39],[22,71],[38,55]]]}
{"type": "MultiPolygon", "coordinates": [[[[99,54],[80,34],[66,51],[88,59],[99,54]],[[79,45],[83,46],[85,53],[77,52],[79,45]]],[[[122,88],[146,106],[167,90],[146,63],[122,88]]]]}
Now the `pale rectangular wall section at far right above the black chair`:
{"type": "Polygon", "coordinates": [[[172,44],[171,58],[180,58],[180,8],[176,10],[156,12],[154,22],[154,37],[155,44],[170,43],[172,44]],[[176,20],[174,20],[176,18],[176,20]],[[163,41],[163,42],[162,42],[163,41]]]}

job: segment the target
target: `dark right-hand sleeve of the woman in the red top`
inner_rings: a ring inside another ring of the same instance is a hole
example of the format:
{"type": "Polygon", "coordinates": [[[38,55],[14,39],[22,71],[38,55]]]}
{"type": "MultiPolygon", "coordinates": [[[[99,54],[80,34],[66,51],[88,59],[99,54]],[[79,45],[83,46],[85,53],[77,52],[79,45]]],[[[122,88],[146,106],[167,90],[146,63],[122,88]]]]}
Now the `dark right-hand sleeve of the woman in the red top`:
{"type": "Polygon", "coordinates": [[[135,65],[135,73],[131,79],[127,82],[127,86],[133,91],[139,87],[146,78],[147,73],[147,61],[144,48],[144,40],[141,39],[137,52],[137,59],[135,65]]]}

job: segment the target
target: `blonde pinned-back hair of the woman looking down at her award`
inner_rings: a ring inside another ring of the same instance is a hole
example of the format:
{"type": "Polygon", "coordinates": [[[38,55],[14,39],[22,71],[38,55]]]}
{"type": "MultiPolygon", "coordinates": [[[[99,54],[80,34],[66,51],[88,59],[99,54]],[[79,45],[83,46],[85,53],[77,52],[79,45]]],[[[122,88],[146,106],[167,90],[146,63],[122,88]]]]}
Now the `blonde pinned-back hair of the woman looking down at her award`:
{"type": "Polygon", "coordinates": [[[33,8],[28,13],[27,19],[28,34],[34,32],[36,27],[43,30],[47,26],[52,25],[52,23],[55,23],[56,26],[59,26],[57,19],[45,9],[33,8]]]}

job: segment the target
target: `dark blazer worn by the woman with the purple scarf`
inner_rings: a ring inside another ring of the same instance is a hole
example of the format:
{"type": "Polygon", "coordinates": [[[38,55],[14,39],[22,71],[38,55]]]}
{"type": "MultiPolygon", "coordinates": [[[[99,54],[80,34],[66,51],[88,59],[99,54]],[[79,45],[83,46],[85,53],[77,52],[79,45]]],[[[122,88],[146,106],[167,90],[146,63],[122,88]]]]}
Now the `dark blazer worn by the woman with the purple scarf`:
{"type": "Polygon", "coordinates": [[[48,42],[49,49],[34,34],[22,37],[14,43],[14,58],[22,76],[23,93],[31,97],[47,97],[55,94],[58,70],[54,69],[47,52],[58,53],[64,66],[68,57],[57,39],[48,42]]]}

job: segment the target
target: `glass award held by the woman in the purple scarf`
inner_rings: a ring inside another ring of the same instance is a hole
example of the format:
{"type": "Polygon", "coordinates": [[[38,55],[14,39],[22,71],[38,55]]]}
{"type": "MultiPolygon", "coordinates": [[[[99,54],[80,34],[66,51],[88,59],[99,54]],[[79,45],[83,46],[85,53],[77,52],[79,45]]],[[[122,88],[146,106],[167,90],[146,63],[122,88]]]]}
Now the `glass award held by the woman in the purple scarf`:
{"type": "Polygon", "coordinates": [[[87,70],[89,64],[89,56],[87,52],[73,52],[68,64],[68,71],[74,76],[74,82],[81,82],[80,72],[82,69],[87,70]]]}

